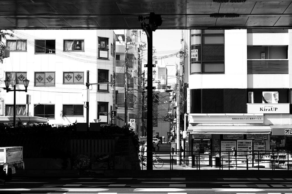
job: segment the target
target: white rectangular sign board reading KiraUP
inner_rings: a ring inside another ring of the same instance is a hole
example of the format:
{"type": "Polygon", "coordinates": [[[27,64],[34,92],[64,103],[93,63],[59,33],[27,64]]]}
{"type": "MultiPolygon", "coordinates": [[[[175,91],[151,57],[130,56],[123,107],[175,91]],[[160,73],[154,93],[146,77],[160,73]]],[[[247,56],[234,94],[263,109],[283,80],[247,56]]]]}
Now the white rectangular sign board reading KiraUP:
{"type": "Polygon", "coordinates": [[[289,103],[248,103],[247,113],[289,114],[289,103]]]}

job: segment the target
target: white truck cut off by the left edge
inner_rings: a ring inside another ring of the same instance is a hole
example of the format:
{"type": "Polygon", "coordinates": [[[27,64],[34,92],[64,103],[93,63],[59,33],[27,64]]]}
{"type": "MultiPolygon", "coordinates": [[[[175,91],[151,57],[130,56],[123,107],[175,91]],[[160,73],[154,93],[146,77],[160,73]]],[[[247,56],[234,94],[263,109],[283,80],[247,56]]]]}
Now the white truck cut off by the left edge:
{"type": "Polygon", "coordinates": [[[0,147],[0,179],[11,180],[12,174],[15,174],[15,167],[24,169],[22,150],[22,146],[0,147]]]}

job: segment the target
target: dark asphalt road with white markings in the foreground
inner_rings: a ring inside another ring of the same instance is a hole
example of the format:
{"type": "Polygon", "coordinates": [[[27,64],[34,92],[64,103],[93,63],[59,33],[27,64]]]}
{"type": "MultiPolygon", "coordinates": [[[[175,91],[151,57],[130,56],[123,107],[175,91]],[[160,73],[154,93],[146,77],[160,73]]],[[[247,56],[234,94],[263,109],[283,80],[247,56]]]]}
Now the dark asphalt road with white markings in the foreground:
{"type": "Polygon", "coordinates": [[[2,194],[291,194],[289,177],[35,177],[0,183],[2,194]]]}

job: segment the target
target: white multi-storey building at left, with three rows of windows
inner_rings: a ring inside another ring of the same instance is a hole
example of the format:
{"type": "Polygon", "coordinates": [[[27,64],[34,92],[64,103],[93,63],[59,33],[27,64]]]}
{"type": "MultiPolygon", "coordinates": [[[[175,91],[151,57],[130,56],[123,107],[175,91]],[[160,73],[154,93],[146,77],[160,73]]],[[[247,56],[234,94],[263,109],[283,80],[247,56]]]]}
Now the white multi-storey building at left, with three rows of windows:
{"type": "MultiPolygon", "coordinates": [[[[30,80],[27,93],[16,91],[17,116],[45,117],[54,125],[85,123],[89,71],[89,83],[98,83],[89,86],[89,123],[109,124],[114,85],[100,82],[113,82],[115,44],[113,30],[15,30],[7,37],[10,57],[1,64],[1,87],[10,79],[23,89],[22,79],[30,80]]],[[[13,115],[13,92],[2,90],[0,97],[1,116],[13,115]]]]}

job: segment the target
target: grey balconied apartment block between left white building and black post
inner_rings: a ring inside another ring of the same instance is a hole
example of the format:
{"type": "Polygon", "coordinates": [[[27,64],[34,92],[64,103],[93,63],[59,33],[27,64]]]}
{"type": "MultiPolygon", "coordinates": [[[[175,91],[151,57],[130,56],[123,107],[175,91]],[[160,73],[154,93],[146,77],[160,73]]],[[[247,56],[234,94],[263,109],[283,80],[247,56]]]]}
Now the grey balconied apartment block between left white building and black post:
{"type": "MultiPolygon", "coordinates": [[[[115,92],[117,117],[125,124],[133,123],[134,131],[141,131],[141,93],[143,49],[147,49],[147,37],[142,30],[114,30],[116,44],[115,92]],[[125,86],[126,84],[126,86],[125,86]],[[125,104],[125,93],[127,101],[125,104]],[[125,105],[127,110],[125,111],[125,105]],[[125,120],[125,113],[127,120],[125,120]]],[[[131,125],[132,126],[132,125],[131,125]]]]}

